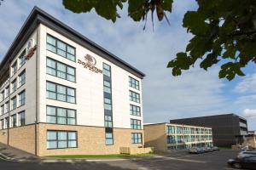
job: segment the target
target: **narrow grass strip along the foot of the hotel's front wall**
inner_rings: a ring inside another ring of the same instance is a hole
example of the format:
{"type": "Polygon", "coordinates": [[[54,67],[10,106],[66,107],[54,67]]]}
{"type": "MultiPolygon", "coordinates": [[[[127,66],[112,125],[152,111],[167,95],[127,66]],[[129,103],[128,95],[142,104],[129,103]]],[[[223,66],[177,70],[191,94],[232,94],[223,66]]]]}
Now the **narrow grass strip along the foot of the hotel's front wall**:
{"type": "Polygon", "coordinates": [[[116,154],[116,155],[64,155],[64,156],[47,156],[53,158],[69,158],[69,159],[80,159],[80,158],[97,158],[97,159],[116,159],[116,158],[137,158],[137,157],[154,157],[155,154],[138,154],[138,155],[125,155],[125,154],[116,154]]]}

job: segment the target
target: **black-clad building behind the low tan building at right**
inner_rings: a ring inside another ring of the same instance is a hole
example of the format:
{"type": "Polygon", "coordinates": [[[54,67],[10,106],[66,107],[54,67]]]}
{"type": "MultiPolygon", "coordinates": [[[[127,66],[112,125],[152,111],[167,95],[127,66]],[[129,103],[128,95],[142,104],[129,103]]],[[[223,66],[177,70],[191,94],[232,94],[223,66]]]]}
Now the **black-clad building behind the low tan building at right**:
{"type": "Polygon", "coordinates": [[[200,116],[170,120],[170,122],[212,127],[213,144],[217,146],[230,147],[234,144],[242,144],[247,135],[247,120],[235,114],[200,116]]]}

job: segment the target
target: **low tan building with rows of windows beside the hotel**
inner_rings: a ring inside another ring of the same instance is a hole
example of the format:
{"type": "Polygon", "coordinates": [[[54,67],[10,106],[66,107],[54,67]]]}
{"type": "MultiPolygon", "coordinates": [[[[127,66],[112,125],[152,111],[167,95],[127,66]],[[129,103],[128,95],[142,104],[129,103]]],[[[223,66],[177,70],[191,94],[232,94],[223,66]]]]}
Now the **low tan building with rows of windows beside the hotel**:
{"type": "Polygon", "coordinates": [[[144,124],[145,146],[155,150],[179,150],[212,146],[212,128],[173,123],[144,124]]]}

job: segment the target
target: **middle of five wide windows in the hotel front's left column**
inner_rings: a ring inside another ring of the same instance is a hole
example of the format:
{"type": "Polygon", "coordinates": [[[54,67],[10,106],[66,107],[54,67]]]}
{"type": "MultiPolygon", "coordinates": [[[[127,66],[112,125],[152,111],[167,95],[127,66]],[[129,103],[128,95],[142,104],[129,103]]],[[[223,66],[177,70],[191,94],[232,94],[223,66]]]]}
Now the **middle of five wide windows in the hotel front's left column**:
{"type": "Polygon", "coordinates": [[[68,103],[75,103],[75,89],[55,84],[54,82],[46,82],[46,92],[48,99],[55,99],[68,103]]]}

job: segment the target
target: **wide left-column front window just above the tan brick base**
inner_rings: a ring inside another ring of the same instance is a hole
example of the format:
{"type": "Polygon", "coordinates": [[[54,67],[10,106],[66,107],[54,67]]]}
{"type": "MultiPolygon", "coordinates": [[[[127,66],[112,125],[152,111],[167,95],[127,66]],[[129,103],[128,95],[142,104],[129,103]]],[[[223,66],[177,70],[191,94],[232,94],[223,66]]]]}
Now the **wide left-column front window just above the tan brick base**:
{"type": "Polygon", "coordinates": [[[46,122],[55,123],[55,124],[76,124],[76,111],[55,107],[55,106],[46,106],[46,122]]]}

